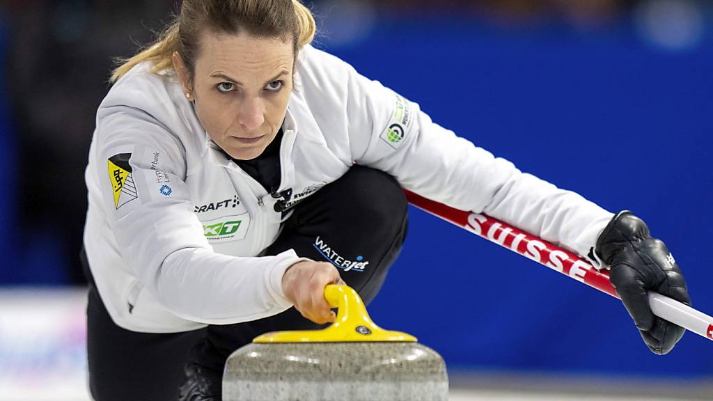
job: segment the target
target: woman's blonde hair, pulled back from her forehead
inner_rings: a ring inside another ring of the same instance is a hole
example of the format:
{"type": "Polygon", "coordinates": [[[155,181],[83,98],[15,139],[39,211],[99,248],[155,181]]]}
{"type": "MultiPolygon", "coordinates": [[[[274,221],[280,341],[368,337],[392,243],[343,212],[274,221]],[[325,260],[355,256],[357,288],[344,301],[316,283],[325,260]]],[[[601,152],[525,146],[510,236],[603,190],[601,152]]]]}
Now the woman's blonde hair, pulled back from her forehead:
{"type": "Polygon", "coordinates": [[[152,73],[173,69],[173,53],[178,51],[193,77],[202,29],[239,34],[245,30],[258,37],[292,39],[294,57],[317,31],[312,12],[299,0],[183,0],[180,14],[152,44],[128,59],[111,74],[118,81],[136,64],[151,61],[152,73]]]}

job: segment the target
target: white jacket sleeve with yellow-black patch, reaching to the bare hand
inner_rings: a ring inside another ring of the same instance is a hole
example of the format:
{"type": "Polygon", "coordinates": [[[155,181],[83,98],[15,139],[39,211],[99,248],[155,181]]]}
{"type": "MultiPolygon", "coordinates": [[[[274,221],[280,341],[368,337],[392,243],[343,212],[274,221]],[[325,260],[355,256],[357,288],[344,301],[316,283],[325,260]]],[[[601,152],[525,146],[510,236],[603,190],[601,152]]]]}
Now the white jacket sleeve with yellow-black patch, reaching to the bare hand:
{"type": "Polygon", "coordinates": [[[214,253],[193,213],[185,149],[136,108],[100,109],[95,173],[120,255],[143,287],[175,315],[206,324],[265,318],[292,306],[282,275],[301,260],[214,253]]]}

